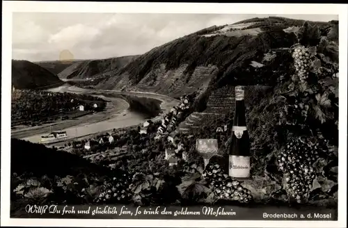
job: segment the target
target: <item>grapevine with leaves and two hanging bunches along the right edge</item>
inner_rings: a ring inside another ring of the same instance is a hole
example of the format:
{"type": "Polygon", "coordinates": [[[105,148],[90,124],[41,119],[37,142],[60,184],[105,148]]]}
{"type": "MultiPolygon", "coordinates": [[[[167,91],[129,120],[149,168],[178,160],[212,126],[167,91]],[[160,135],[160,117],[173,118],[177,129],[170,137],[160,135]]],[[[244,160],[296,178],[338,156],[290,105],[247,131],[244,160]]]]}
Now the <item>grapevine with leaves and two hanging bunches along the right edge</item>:
{"type": "Polygon", "coordinates": [[[313,181],[322,175],[313,168],[318,159],[333,159],[329,148],[335,141],[326,140],[322,131],[338,125],[338,47],[319,38],[318,31],[306,23],[299,29],[299,43],[290,49],[294,74],[276,95],[285,98],[280,116],[285,117],[281,125],[288,133],[277,165],[289,200],[297,203],[308,201],[313,181]]]}

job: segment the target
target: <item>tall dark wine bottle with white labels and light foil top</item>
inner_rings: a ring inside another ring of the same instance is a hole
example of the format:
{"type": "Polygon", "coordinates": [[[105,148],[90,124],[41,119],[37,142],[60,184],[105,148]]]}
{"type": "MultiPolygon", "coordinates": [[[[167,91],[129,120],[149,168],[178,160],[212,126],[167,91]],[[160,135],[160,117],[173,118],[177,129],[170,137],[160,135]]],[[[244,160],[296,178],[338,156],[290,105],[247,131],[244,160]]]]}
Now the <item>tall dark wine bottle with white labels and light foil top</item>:
{"type": "Polygon", "coordinates": [[[235,87],[235,116],[232,124],[228,173],[235,179],[250,176],[250,140],[246,129],[244,87],[235,87]]]}

